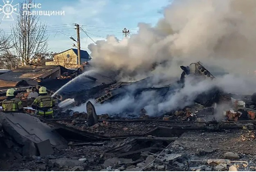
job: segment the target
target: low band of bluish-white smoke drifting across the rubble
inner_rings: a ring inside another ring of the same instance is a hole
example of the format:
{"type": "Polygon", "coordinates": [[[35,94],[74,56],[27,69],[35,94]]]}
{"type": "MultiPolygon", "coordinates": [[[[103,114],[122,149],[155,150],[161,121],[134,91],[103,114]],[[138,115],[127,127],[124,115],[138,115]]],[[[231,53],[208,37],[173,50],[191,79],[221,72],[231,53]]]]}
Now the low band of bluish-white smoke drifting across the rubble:
{"type": "MultiPolygon", "coordinates": [[[[219,87],[227,93],[232,92],[236,94],[252,94],[255,91],[253,86],[248,86],[247,80],[232,75],[226,75],[213,81],[188,76],[185,80],[184,87],[182,89],[180,87],[170,89],[165,99],[163,99],[163,96],[159,96],[157,91],[144,91],[141,95],[134,97],[133,93],[139,88],[137,87],[138,85],[132,85],[124,96],[112,102],[103,104],[95,103],[97,114],[128,112],[138,115],[139,111],[144,108],[148,115],[155,116],[193,105],[195,98],[199,94],[207,92],[214,87],[219,87]]],[[[85,104],[73,110],[82,112],[85,109],[84,106],[85,104]]]]}

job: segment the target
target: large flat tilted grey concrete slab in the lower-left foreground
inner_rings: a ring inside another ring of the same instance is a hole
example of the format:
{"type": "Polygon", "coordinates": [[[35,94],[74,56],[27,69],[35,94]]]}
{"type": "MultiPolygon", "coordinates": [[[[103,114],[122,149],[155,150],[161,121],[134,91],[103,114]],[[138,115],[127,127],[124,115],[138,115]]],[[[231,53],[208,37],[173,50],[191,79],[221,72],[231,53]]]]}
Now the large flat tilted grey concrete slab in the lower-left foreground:
{"type": "Polygon", "coordinates": [[[49,139],[52,146],[65,144],[64,139],[58,133],[54,132],[52,128],[36,117],[25,113],[0,112],[0,115],[9,123],[10,130],[11,128],[14,129],[18,134],[34,143],[40,143],[49,139]]]}

